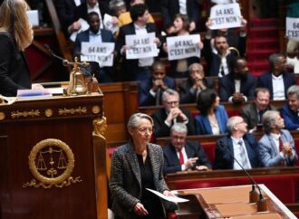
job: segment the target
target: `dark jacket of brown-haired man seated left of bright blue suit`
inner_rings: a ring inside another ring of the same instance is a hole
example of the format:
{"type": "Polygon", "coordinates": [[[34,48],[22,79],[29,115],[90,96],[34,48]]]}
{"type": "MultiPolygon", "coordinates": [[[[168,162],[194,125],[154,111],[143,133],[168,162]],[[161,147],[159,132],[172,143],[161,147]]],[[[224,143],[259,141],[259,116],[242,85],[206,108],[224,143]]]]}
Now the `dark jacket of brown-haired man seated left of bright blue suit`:
{"type": "MultiPolygon", "coordinates": [[[[266,110],[276,110],[272,105],[268,105],[266,110]]],[[[254,129],[258,123],[258,115],[256,110],[256,104],[254,102],[248,103],[246,106],[240,109],[241,117],[248,125],[248,129],[254,129]]]]}

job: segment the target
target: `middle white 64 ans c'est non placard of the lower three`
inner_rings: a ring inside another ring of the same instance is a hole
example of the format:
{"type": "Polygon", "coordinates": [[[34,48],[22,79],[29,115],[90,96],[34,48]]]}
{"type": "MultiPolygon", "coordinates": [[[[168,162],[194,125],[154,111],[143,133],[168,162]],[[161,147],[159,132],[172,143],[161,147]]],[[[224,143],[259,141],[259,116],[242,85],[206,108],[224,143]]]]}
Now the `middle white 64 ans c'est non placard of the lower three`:
{"type": "Polygon", "coordinates": [[[130,49],[126,51],[126,57],[130,59],[142,59],[158,56],[159,50],[154,43],[155,33],[126,35],[126,45],[130,49]]]}

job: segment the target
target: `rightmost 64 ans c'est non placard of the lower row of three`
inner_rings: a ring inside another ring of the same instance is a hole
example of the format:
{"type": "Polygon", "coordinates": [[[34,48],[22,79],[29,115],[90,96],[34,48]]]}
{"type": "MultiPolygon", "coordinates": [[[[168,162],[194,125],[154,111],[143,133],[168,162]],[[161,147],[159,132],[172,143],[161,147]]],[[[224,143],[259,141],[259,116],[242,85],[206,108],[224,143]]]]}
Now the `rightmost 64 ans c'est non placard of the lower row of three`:
{"type": "Polygon", "coordinates": [[[166,38],[169,60],[200,57],[200,35],[170,36],[166,38]]]}

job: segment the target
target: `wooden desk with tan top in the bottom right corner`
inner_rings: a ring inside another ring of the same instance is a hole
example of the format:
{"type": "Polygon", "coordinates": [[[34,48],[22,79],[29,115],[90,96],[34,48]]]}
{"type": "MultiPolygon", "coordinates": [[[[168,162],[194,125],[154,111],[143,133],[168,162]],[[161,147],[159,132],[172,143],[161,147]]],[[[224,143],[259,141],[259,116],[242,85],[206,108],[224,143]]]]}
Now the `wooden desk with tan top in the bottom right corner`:
{"type": "Polygon", "coordinates": [[[178,218],[234,218],[286,219],[297,218],[264,185],[259,185],[266,199],[267,211],[257,212],[256,204],[249,203],[251,186],[227,186],[178,190],[178,195],[189,202],[178,205],[178,218]]]}

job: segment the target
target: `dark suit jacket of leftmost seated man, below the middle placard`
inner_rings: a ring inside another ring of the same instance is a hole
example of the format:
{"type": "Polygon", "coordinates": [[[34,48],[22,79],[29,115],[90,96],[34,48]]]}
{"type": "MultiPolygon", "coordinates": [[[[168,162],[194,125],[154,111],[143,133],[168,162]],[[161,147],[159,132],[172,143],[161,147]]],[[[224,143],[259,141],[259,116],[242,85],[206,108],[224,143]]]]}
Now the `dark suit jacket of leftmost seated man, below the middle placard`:
{"type": "MultiPolygon", "coordinates": [[[[176,81],[173,78],[170,78],[168,76],[165,76],[163,79],[166,86],[168,86],[169,89],[176,90],[176,81]]],[[[140,106],[154,106],[156,105],[156,97],[153,97],[149,90],[153,86],[153,79],[150,77],[148,80],[140,81],[139,86],[139,104],[140,106]]],[[[159,93],[159,104],[161,103],[161,97],[162,97],[163,90],[159,93]]]]}

